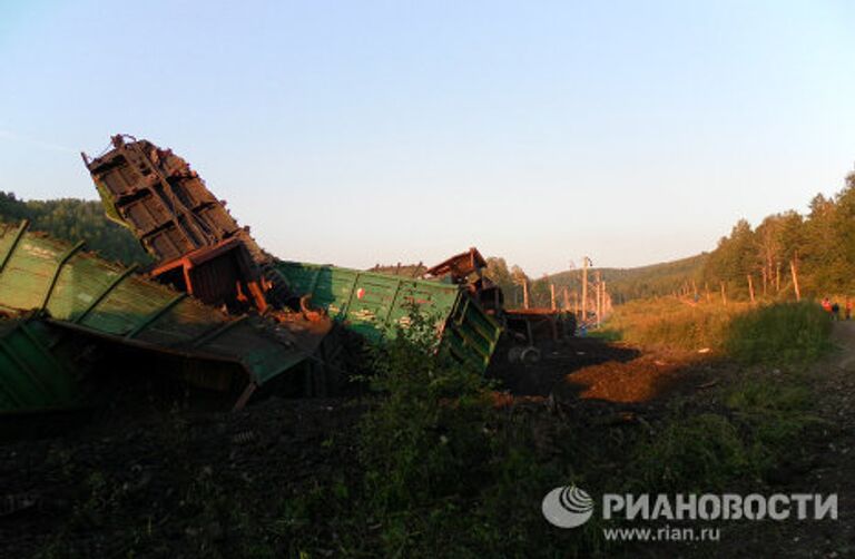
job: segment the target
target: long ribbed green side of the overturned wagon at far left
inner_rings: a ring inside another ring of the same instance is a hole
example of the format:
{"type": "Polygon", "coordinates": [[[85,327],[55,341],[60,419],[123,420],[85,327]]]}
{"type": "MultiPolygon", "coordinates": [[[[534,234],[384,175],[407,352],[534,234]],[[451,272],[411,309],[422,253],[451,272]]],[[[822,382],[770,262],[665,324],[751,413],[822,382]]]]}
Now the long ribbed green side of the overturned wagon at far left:
{"type": "Polygon", "coordinates": [[[0,310],[45,310],[116,342],[239,364],[264,384],[311,355],[328,323],[232,317],[117,264],[20,227],[0,228],[0,310]]]}

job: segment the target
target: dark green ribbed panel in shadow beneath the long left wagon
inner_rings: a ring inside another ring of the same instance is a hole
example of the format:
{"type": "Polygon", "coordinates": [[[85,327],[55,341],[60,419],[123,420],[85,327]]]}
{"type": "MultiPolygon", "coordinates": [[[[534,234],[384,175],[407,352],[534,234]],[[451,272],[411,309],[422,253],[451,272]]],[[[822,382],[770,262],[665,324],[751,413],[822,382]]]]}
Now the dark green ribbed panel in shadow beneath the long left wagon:
{"type": "Polygon", "coordinates": [[[0,413],[76,408],[80,371],[51,353],[58,334],[30,318],[0,320],[0,413]]]}

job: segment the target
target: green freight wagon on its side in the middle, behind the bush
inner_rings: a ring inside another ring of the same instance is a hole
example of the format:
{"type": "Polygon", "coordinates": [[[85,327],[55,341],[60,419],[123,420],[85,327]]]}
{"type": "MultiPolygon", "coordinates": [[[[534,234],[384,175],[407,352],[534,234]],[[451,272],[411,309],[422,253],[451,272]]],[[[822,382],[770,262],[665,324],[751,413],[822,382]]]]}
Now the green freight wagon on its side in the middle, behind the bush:
{"type": "Polygon", "coordinates": [[[293,293],[309,295],[312,306],[370,342],[394,336],[415,304],[438,317],[452,355],[483,372],[501,335],[499,323],[460,285],[299,262],[274,267],[293,293]]]}

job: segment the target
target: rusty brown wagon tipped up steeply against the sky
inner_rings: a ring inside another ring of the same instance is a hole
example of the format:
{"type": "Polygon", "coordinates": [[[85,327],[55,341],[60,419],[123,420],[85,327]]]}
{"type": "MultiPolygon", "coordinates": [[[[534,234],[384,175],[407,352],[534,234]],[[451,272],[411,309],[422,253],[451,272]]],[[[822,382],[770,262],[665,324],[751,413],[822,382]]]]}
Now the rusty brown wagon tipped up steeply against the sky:
{"type": "Polygon", "coordinates": [[[81,154],[107,216],[155,258],[150,277],[233,312],[282,308],[288,298],[266,254],[205,182],[169,149],[111,138],[99,157],[81,154]]]}

